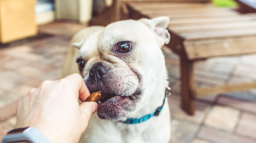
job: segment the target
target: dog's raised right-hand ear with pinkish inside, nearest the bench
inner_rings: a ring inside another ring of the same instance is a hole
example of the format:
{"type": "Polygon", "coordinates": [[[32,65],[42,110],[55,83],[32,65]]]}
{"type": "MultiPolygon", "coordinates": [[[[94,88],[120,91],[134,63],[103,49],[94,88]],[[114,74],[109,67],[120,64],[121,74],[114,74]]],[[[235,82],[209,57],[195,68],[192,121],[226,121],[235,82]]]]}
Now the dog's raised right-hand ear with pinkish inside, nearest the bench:
{"type": "Polygon", "coordinates": [[[169,17],[162,16],[153,19],[140,19],[139,21],[150,27],[153,33],[156,34],[159,45],[162,46],[170,41],[170,33],[166,30],[169,20],[169,17]]]}

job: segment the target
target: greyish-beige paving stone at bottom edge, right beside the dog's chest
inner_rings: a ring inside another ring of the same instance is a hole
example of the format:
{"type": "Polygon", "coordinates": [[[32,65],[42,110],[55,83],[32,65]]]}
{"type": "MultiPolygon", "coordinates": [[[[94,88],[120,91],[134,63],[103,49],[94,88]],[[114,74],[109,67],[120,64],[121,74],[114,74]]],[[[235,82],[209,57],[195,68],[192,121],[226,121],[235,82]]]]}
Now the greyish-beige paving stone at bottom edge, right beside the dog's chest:
{"type": "Polygon", "coordinates": [[[193,139],[198,130],[198,125],[176,119],[171,121],[171,125],[170,143],[187,143],[193,139]]]}

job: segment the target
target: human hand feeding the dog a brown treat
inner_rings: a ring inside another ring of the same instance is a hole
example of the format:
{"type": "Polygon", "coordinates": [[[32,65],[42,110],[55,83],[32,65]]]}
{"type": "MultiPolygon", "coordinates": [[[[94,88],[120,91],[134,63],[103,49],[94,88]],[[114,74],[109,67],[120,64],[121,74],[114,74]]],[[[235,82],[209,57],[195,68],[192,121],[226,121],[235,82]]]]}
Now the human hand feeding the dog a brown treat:
{"type": "Polygon", "coordinates": [[[33,126],[53,142],[78,142],[88,126],[96,102],[79,105],[90,96],[82,77],[75,73],[56,81],[44,81],[31,89],[16,108],[16,128],[33,126]]]}

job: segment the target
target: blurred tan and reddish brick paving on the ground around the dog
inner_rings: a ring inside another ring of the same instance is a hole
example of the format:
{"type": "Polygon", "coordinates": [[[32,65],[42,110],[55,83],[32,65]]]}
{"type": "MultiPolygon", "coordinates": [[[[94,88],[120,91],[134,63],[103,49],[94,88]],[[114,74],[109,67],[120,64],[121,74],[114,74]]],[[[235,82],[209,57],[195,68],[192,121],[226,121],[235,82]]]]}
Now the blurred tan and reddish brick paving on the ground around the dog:
{"type": "MultiPolygon", "coordinates": [[[[61,78],[69,40],[85,27],[55,22],[39,27],[39,35],[0,45],[0,140],[15,127],[17,102],[44,80],[61,78]]],[[[179,57],[162,48],[173,94],[170,143],[255,143],[256,89],[198,97],[196,113],[180,108],[179,57]]],[[[195,85],[207,87],[256,80],[256,55],[211,58],[195,64],[195,85]]]]}

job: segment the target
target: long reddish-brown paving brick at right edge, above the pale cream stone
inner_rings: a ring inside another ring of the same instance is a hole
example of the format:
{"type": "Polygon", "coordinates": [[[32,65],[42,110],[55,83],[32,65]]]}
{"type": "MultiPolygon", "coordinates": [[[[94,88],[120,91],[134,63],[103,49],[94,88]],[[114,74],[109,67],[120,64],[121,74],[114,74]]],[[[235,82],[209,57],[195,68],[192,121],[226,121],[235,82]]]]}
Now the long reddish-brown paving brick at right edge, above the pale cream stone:
{"type": "Polygon", "coordinates": [[[246,99],[236,99],[236,98],[227,98],[227,97],[220,97],[218,102],[220,105],[225,105],[229,107],[234,107],[236,109],[251,112],[256,114],[256,102],[246,99]]]}

